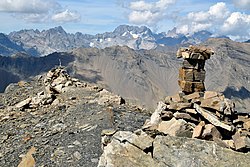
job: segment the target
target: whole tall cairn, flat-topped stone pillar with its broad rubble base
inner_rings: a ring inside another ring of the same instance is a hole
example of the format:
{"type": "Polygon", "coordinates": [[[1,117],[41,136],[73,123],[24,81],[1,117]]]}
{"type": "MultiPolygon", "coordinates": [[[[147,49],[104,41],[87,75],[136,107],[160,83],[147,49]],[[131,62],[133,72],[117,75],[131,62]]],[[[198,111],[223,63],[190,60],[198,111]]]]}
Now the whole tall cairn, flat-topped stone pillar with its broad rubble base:
{"type": "Polygon", "coordinates": [[[160,101],[142,130],[149,134],[213,140],[233,150],[250,151],[250,115],[235,111],[222,93],[205,91],[205,61],[211,49],[190,46],[179,49],[184,58],[179,85],[182,92],[160,101]]]}

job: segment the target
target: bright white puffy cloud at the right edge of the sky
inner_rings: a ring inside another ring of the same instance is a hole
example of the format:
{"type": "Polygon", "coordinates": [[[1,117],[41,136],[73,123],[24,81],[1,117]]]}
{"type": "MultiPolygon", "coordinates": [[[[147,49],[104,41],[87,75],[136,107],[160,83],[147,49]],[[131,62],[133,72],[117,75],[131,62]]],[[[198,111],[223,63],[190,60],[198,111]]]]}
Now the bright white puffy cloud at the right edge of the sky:
{"type": "Polygon", "coordinates": [[[178,20],[177,32],[192,34],[208,30],[236,40],[250,38],[250,15],[231,12],[224,2],[218,2],[208,11],[190,12],[178,20]]]}

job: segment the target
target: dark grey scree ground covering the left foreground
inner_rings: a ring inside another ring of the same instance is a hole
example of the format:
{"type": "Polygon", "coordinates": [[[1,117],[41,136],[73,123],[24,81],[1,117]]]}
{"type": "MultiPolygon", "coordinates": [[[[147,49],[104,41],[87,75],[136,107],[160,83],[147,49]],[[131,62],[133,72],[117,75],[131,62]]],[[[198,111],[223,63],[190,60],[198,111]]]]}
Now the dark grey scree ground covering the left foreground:
{"type": "Polygon", "coordinates": [[[22,165],[25,157],[33,157],[38,167],[97,166],[103,129],[133,131],[149,117],[135,106],[121,104],[119,96],[76,79],[62,92],[52,92],[52,101],[46,77],[11,84],[0,95],[0,166],[22,165]],[[32,147],[33,156],[27,156],[32,147]]]}

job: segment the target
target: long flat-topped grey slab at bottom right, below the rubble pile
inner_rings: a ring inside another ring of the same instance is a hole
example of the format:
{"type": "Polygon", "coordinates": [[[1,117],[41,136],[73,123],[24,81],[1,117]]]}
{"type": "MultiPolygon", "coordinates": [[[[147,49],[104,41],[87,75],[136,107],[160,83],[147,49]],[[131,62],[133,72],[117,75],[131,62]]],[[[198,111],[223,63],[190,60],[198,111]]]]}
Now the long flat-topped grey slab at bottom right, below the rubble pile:
{"type": "Polygon", "coordinates": [[[157,136],[154,159],[165,166],[248,166],[249,153],[238,153],[213,142],[198,139],[157,136]]]}

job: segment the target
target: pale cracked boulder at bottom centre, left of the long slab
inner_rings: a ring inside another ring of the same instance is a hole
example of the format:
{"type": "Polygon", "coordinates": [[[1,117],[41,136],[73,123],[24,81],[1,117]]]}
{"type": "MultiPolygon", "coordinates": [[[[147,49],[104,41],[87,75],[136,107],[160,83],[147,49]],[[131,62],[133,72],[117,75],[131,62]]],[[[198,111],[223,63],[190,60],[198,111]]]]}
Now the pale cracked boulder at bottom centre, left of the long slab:
{"type": "Polygon", "coordinates": [[[136,135],[128,131],[117,132],[112,141],[104,147],[98,167],[158,166],[152,158],[152,144],[153,139],[146,134],[136,135]]]}

